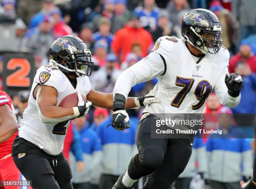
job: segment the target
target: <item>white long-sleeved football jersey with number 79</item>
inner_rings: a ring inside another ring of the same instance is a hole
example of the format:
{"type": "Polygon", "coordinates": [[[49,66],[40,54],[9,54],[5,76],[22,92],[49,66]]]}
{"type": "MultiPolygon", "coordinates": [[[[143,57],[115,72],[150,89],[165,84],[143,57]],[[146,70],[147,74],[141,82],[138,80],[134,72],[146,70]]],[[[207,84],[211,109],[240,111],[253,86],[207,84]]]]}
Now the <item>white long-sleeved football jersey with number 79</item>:
{"type": "Polygon", "coordinates": [[[185,41],[169,36],[159,38],[152,52],[126,69],[118,78],[114,94],[127,97],[135,84],[159,80],[156,98],[161,103],[146,106],[149,113],[202,113],[205,100],[214,89],[220,103],[236,106],[240,96],[228,95],[225,75],[228,73],[229,52],[221,47],[218,54],[205,54],[197,63],[185,41]]]}

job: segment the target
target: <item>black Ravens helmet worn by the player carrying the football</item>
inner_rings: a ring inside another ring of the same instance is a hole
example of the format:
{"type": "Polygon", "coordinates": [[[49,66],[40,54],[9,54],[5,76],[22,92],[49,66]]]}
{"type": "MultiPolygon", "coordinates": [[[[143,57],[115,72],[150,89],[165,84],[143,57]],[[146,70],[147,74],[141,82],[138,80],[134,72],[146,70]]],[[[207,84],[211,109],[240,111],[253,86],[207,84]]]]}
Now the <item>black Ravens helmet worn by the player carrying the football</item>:
{"type": "Polygon", "coordinates": [[[57,39],[49,50],[50,64],[63,73],[73,72],[77,77],[90,76],[93,69],[92,54],[84,42],[75,36],[57,39]]]}

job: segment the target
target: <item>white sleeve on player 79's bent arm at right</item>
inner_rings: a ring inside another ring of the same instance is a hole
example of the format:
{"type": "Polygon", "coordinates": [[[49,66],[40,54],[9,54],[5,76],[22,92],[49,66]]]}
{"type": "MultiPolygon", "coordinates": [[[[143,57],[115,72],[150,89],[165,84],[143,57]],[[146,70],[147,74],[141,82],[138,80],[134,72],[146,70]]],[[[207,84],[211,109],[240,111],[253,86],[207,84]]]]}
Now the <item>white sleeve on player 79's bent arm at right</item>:
{"type": "Polygon", "coordinates": [[[231,97],[228,94],[228,88],[225,84],[226,74],[228,74],[228,66],[225,66],[223,71],[221,72],[220,77],[215,84],[214,91],[220,101],[220,104],[233,108],[239,104],[241,100],[241,95],[239,95],[238,97],[231,97]]]}

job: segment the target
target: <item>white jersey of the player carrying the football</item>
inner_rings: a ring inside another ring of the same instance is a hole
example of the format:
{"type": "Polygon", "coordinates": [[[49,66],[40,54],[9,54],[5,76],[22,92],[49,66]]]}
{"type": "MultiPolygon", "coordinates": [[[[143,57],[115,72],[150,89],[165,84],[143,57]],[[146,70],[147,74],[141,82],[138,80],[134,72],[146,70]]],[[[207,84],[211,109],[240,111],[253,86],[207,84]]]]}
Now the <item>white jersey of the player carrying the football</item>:
{"type": "Polygon", "coordinates": [[[69,94],[80,92],[87,95],[91,90],[87,76],[77,78],[77,87],[74,89],[69,79],[53,66],[42,66],[36,71],[32,89],[28,98],[28,107],[23,112],[22,125],[19,136],[35,144],[50,155],[58,155],[63,149],[64,138],[70,121],[65,125],[58,123],[42,123],[36,107],[33,90],[38,85],[54,87],[58,92],[57,105],[69,94]]]}

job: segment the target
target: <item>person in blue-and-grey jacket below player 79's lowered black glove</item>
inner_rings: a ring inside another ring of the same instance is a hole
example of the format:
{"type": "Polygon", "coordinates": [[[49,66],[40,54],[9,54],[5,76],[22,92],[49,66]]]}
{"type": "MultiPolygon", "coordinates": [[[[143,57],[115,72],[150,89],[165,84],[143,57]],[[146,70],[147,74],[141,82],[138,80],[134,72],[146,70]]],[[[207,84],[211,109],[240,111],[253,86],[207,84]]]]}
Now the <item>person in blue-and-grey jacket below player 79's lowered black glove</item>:
{"type": "Polygon", "coordinates": [[[123,131],[108,127],[112,115],[99,126],[98,134],[103,149],[102,176],[100,189],[110,189],[120,174],[123,174],[133,155],[137,153],[135,144],[136,124],[130,122],[131,128],[123,131]]]}

